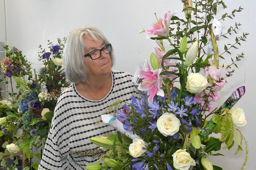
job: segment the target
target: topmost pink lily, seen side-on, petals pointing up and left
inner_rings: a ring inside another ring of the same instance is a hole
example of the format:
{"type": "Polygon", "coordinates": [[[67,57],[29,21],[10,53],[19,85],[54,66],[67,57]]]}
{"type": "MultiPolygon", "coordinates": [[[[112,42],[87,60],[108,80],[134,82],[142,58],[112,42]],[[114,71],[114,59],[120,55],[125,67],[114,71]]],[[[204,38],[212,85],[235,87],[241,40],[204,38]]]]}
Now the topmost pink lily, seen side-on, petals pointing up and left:
{"type": "Polygon", "coordinates": [[[169,25],[171,21],[171,17],[178,13],[177,11],[175,12],[166,12],[164,13],[164,19],[158,19],[157,23],[153,24],[153,28],[150,30],[143,30],[145,31],[146,38],[150,39],[153,35],[156,36],[168,36],[169,34],[169,25]]]}

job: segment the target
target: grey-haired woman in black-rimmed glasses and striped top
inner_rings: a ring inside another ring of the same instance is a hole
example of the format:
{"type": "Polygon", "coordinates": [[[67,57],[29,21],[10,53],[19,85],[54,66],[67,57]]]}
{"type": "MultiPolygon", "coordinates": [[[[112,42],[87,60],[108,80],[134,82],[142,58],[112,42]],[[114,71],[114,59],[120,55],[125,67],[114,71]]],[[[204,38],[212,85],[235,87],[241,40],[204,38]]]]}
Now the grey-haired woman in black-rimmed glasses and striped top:
{"type": "Polygon", "coordinates": [[[72,85],[58,99],[39,170],[82,170],[95,163],[104,152],[89,139],[114,133],[99,122],[101,115],[116,100],[129,102],[137,96],[132,75],[111,70],[113,49],[98,29],[84,26],[72,31],[63,59],[72,85]]]}

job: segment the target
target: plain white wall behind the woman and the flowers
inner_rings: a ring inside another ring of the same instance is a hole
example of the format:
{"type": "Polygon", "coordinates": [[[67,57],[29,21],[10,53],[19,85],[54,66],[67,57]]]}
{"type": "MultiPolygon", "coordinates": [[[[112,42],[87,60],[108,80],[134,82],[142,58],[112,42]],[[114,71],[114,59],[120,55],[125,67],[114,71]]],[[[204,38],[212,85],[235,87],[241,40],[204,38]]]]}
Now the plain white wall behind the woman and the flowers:
{"type": "MultiPolygon", "coordinates": [[[[221,105],[228,96],[238,87],[245,85],[245,96],[237,103],[246,113],[248,125],[241,128],[249,143],[249,160],[245,169],[255,169],[256,148],[256,116],[255,98],[256,83],[254,64],[255,46],[254,32],[255,6],[254,0],[244,1],[226,0],[230,13],[240,5],[243,12],[236,14],[236,20],[225,20],[223,29],[235,22],[241,23],[242,32],[250,33],[246,42],[242,43],[240,50],[233,50],[232,57],[244,52],[246,58],[238,62],[239,69],[228,78],[228,84],[223,88],[221,105]]],[[[5,0],[7,44],[23,51],[23,54],[33,62],[34,68],[39,68],[38,46],[42,44],[47,48],[46,40],[56,42],[57,37],[67,37],[72,29],[84,24],[100,28],[109,41],[113,44],[116,65],[114,69],[134,73],[137,65],[143,64],[154,52],[155,42],[146,40],[145,34],[139,34],[142,28],[150,29],[155,21],[154,13],[160,17],[165,11],[178,10],[179,16],[183,6],[180,0],[5,0]]],[[[234,37],[235,38],[235,37],[234,37]]],[[[221,39],[220,43],[228,43],[221,39]]],[[[225,61],[230,63],[230,56],[225,61]]],[[[225,158],[213,158],[213,164],[220,165],[223,169],[238,170],[243,162],[244,153],[233,155],[235,150],[226,151],[225,158]]]]}

